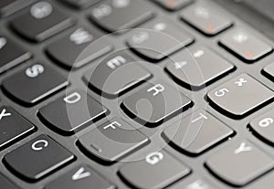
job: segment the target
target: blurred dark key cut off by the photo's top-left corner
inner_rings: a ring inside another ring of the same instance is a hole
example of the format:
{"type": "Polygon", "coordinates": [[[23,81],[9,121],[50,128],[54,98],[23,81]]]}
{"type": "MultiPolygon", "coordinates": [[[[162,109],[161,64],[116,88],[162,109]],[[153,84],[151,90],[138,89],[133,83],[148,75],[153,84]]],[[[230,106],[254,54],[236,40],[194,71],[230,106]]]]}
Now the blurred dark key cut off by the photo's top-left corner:
{"type": "Polygon", "coordinates": [[[18,10],[32,4],[36,0],[1,0],[0,1],[0,17],[9,16],[18,10]]]}

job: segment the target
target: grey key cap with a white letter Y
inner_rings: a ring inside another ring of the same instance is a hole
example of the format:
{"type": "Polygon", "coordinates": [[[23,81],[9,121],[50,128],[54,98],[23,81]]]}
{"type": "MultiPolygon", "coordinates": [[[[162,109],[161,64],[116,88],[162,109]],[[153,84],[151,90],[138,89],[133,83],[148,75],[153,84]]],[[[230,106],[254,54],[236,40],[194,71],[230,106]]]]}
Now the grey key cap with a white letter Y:
{"type": "Polygon", "coordinates": [[[250,142],[233,142],[206,161],[206,167],[228,184],[243,186],[268,172],[273,159],[250,142]]]}

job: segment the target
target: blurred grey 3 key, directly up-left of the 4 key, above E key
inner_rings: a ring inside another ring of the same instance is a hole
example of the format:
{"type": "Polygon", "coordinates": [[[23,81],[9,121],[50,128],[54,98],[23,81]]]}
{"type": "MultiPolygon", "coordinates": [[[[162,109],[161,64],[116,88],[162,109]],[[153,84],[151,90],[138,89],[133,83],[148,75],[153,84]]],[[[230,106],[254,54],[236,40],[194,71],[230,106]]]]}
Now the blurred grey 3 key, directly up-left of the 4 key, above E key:
{"type": "Polygon", "coordinates": [[[127,45],[150,61],[160,61],[193,41],[194,37],[184,32],[180,25],[159,17],[147,23],[143,29],[133,31],[127,39],[127,45]]]}

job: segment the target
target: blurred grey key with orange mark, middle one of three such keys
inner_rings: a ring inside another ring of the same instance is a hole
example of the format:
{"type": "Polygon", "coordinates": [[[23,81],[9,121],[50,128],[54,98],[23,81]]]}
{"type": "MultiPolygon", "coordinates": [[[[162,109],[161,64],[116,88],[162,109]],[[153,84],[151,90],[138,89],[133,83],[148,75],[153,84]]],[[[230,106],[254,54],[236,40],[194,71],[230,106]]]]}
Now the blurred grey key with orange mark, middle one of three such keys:
{"type": "Polygon", "coordinates": [[[195,27],[205,36],[215,36],[232,26],[232,21],[224,15],[219,7],[205,3],[186,7],[180,14],[187,24],[195,27]]]}

